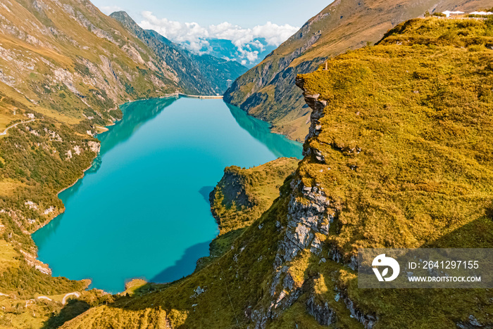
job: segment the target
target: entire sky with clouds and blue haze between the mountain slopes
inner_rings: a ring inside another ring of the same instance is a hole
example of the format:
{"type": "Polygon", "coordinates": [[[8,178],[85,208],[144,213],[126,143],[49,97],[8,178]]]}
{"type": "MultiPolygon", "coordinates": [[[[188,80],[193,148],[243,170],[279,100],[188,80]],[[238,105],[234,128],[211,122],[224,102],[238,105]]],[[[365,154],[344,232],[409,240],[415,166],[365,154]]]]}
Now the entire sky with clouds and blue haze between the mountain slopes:
{"type": "Polygon", "coordinates": [[[93,0],[106,14],[126,11],[144,29],[155,30],[194,53],[211,53],[210,39],[230,40],[227,60],[254,65],[261,53],[292,36],[332,0],[93,0]]]}

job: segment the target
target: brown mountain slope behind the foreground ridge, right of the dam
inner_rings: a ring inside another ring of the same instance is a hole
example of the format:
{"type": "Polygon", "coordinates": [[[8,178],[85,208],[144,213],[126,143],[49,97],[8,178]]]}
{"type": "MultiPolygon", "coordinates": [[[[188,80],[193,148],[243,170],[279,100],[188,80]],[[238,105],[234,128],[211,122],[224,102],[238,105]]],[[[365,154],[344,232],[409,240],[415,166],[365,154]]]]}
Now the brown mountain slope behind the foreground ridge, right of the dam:
{"type": "Polygon", "coordinates": [[[327,58],[378,41],[411,18],[445,10],[489,8],[487,0],[337,0],[308,20],[299,32],[239,77],[225,101],[273,124],[273,130],[304,141],[311,110],[294,86],[297,74],[313,72],[327,58]]]}

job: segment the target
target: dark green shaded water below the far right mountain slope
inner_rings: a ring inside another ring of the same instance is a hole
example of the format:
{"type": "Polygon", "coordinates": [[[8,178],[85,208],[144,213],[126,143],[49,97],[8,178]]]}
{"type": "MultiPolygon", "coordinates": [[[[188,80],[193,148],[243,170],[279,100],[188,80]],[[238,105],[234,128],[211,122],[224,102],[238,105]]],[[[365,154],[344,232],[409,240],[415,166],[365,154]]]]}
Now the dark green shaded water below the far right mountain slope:
{"type": "Polygon", "coordinates": [[[242,127],[248,133],[265,144],[268,149],[275,154],[276,157],[297,157],[302,159],[303,156],[303,144],[297,141],[291,141],[285,136],[280,134],[270,133],[270,124],[262,120],[258,120],[246,114],[246,112],[234,105],[227,104],[227,108],[233,117],[235,117],[236,122],[238,122],[239,127],[242,127]]]}

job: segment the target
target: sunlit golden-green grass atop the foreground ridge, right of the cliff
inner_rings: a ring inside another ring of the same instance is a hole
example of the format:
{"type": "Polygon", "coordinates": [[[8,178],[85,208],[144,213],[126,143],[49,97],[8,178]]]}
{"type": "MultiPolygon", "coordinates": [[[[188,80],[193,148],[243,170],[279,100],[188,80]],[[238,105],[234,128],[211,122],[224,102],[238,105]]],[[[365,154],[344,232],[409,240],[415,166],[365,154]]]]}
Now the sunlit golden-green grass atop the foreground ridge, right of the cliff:
{"type": "Polygon", "coordinates": [[[327,101],[306,143],[326,164],[301,174],[336,205],[339,247],[492,245],[492,37],[491,19],[411,20],[303,76],[327,101]]]}

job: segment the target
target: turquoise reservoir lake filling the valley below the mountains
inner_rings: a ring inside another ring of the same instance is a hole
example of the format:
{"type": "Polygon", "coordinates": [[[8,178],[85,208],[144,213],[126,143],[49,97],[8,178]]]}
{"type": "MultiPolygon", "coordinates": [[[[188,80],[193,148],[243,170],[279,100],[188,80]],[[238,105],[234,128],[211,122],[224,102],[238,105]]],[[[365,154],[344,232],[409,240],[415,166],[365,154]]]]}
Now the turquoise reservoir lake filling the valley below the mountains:
{"type": "Polygon", "coordinates": [[[101,153],[60,193],[65,213],[32,235],[54,276],[125,290],[132,278],[192,273],[218,234],[208,193],[230,165],[301,158],[301,143],[222,100],[151,99],[121,106],[101,153]]]}

